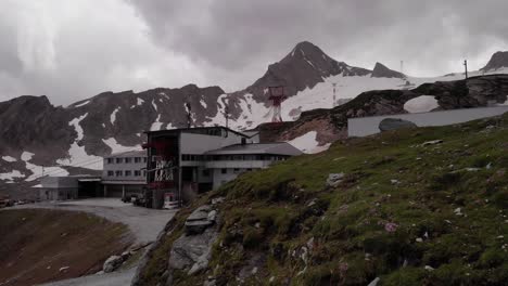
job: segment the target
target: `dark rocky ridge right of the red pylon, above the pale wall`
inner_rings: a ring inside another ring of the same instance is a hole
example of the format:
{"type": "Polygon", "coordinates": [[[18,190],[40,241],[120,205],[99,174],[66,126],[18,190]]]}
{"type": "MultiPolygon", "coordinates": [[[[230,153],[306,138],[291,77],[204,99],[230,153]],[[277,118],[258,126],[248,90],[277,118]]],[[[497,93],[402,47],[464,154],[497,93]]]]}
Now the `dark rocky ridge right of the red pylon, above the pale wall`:
{"type": "Polygon", "coordinates": [[[412,90],[374,90],[332,109],[302,113],[300,119],[279,130],[279,140],[290,140],[318,130],[322,144],[347,135],[347,118],[407,113],[404,104],[420,95],[434,95],[441,109],[486,106],[508,101],[508,75],[472,77],[468,80],[424,83],[412,90]]]}

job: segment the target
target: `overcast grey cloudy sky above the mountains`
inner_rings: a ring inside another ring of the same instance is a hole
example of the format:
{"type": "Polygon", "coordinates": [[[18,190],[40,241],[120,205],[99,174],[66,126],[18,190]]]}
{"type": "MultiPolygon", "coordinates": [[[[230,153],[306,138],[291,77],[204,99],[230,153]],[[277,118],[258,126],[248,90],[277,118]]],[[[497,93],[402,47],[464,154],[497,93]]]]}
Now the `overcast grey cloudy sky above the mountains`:
{"type": "Polygon", "coordinates": [[[506,0],[0,0],[0,101],[187,83],[243,89],[308,40],[411,76],[508,50],[506,0]]]}

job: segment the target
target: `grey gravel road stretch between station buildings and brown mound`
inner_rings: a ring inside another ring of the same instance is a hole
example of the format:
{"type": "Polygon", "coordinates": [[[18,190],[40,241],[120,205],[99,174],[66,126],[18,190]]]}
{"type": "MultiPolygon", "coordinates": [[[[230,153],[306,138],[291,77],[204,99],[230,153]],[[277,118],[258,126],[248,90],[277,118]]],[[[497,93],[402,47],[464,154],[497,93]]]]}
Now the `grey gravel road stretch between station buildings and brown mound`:
{"type": "Polygon", "coordinates": [[[15,208],[43,208],[72,211],[85,211],[120,222],[129,226],[136,243],[144,244],[155,240],[164,225],[175,216],[173,210],[148,209],[124,204],[118,198],[81,199],[63,203],[39,203],[16,206],[15,208]]]}

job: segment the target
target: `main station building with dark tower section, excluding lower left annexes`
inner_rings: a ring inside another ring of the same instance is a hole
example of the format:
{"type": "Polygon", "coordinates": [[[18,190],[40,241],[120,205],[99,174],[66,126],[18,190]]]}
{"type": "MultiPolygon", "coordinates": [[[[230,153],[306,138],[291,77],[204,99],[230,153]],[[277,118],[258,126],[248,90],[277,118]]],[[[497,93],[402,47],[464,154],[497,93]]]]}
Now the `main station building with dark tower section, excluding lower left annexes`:
{"type": "Polygon", "coordinates": [[[147,198],[153,208],[164,202],[189,202],[240,173],[301,155],[291,144],[258,143],[258,134],[226,127],[147,131],[147,198]]]}

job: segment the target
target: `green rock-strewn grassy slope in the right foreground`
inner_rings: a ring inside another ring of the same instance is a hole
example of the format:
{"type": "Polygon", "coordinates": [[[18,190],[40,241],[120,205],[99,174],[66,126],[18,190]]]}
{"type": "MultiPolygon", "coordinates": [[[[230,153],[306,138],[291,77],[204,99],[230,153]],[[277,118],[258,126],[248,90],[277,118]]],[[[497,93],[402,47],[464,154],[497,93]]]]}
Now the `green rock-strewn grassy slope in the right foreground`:
{"type": "MultiPolygon", "coordinates": [[[[245,173],[195,205],[219,196],[208,270],[176,272],[177,285],[507,285],[508,115],[339,142],[245,173]],[[443,142],[423,145],[433,140],[443,142]]],[[[188,213],[148,281],[160,280],[188,213]]]]}

